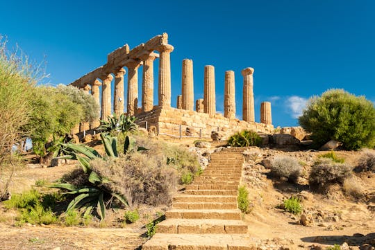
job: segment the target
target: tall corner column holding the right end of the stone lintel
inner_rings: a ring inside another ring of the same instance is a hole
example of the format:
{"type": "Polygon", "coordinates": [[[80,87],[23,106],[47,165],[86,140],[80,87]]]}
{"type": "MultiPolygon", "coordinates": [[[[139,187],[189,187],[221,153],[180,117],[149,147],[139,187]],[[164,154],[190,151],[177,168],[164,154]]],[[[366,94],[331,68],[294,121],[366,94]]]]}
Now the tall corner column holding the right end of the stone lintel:
{"type": "Polygon", "coordinates": [[[159,59],[159,106],[171,107],[171,60],[170,53],[174,47],[170,44],[162,44],[157,50],[159,59]]]}

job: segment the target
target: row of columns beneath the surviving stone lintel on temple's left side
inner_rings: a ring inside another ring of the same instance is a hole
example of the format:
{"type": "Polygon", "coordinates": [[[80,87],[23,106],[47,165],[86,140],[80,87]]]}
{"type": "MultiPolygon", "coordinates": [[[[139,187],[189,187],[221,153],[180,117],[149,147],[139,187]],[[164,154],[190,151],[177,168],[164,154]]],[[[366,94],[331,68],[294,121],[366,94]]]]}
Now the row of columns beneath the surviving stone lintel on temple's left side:
{"type": "MultiPolygon", "coordinates": [[[[174,47],[170,44],[161,44],[157,50],[160,53],[159,60],[159,93],[158,105],[162,107],[170,107],[171,105],[171,69],[170,69],[170,53],[174,47]]],[[[127,113],[131,116],[138,113],[138,68],[143,64],[142,73],[142,111],[150,111],[153,109],[153,60],[157,57],[155,53],[147,53],[136,60],[126,63],[128,68],[128,91],[126,93],[127,113]]],[[[115,93],[113,98],[113,110],[117,116],[124,113],[124,74],[125,69],[119,68],[115,74],[115,93]]],[[[112,73],[108,73],[101,77],[103,83],[99,80],[90,82],[91,93],[101,105],[101,119],[104,120],[112,114],[112,95],[111,82],[113,80],[112,73]],[[101,85],[101,101],[99,100],[99,86],[101,85]]],[[[86,87],[90,87],[86,85],[86,87]]]]}

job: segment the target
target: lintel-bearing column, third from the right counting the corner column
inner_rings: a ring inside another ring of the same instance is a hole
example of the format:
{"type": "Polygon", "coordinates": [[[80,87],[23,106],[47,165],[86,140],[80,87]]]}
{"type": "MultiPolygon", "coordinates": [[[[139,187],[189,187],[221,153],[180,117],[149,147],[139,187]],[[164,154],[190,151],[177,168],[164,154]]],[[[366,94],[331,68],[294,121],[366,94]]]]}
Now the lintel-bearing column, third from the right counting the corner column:
{"type": "Polygon", "coordinates": [[[138,67],[139,62],[126,64],[128,67],[128,98],[127,112],[128,115],[134,116],[138,112],[138,67]]]}

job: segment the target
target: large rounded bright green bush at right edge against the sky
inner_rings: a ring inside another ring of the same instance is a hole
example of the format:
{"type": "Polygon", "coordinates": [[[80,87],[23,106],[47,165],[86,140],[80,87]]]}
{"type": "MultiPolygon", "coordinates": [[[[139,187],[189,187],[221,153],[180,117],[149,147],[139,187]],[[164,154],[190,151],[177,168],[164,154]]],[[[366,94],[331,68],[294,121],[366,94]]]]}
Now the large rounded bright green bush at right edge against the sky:
{"type": "Polygon", "coordinates": [[[374,104],[343,89],[330,89],[310,98],[299,124],[319,145],[331,139],[342,142],[347,150],[375,145],[374,104]]]}

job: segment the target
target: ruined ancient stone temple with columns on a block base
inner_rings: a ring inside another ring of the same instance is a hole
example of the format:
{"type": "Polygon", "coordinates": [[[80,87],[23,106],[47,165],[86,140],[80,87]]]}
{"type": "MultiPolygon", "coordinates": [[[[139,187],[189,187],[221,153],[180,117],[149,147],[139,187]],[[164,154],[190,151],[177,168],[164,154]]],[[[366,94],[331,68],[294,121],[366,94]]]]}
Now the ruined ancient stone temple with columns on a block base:
{"type": "MultiPolygon", "coordinates": [[[[170,136],[209,137],[211,132],[221,132],[225,138],[240,130],[272,132],[271,103],[262,102],[260,123],[256,123],[253,95],[252,68],[242,70],[243,120],[235,117],[235,72],[224,73],[224,115],[216,112],[215,67],[204,68],[202,82],[203,99],[194,101],[193,61],[182,62],[181,95],[171,95],[170,56],[174,47],[168,44],[168,35],[157,35],[144,44],[130,49],[128,44],[117,48],[107,56],[106,64],[83,75],[71,83],[94,96],[101,105],[101,119],[112,114],[136,116],[140,127],[152,128],[158,134],[170,136]],[[153,65],[158,63],[158,100],[153,100],[153,65]],[[142,71],[142,87],[138,87],[138,73],[142,71]],[[124,81],[126,76],[127,81],[124,81]],[[126,84],[126,85],[125,85],[126,84]],[[112,86],[114,93],[112,93],[112,86]],[[126,87],[126,88],[125,88],[126,87]],[[126,93],[124,91],[126,89],[126,93]],[[141,92],[141,93],[140,93],[141,92]],[[140,100],[141,98],[141,100],[140,100]],[[126,103],[126,110],[124,109],[126,103]],[[141,107],[138,107],[141,103],[141,107]],[[176,103],[176,108],[171,107],[176,103]],[[194,111],[195,104],[195,111],[194,111]]],[[[174,83],[176,84],[176,83],[174,83]]],[[[90,124],[91,129],[99,121],[90,124]]],[[[88,130],[83,125],[80,130],[88,130]]]]}

